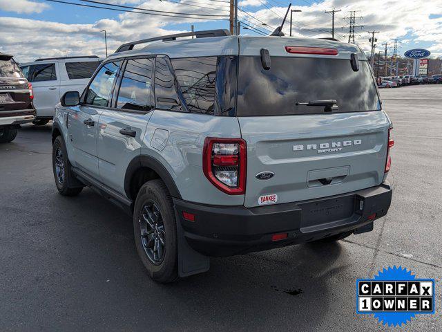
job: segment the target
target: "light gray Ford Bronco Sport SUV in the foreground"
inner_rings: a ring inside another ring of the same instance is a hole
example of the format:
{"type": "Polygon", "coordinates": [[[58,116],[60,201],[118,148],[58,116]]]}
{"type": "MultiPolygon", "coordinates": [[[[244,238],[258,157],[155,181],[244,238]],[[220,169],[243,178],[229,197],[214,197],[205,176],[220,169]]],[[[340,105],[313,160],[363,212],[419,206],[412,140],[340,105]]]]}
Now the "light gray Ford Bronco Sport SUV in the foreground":
{"type": "Polygon", "coordinates": [[[210,256],[371,231],[391,129],[358,46],[200,31],[124,44],[66,93],[52,163],[61,194],[131,214],[148,273],[173,282],[210,256]]]}

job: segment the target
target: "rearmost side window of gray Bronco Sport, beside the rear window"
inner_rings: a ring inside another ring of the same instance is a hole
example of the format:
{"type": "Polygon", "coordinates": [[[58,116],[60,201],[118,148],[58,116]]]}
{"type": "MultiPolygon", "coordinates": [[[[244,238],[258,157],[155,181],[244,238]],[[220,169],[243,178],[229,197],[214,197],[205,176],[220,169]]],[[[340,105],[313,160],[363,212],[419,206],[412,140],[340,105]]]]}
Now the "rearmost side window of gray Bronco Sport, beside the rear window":
{"type": "Polygon", "coordinates": [[[217,57],[171,59],[189,111],[213,114],[217,57]]]}

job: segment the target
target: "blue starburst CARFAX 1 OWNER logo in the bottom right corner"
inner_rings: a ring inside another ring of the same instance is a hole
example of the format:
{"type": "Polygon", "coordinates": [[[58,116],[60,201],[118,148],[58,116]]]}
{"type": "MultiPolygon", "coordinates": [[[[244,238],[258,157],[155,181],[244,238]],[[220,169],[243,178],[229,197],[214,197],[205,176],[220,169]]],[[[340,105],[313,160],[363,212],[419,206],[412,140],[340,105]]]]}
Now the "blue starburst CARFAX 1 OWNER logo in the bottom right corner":
{"type": "Polygon", "coordinates": [[[434,314],[434,279],[417,279],[406,268],[384,268],[374,279],[356,280],[356,313],[374,314],[391,326],[434,314]]]}

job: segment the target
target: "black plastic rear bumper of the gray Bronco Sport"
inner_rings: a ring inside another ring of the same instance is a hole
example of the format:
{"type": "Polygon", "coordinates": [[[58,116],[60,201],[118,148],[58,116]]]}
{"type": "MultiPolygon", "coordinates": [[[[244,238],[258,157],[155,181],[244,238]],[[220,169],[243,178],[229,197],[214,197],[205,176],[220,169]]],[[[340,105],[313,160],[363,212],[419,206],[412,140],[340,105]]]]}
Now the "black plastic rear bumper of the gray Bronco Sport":
{"type": "Polygon", "coordinates": [[[322,199],[256,208],[174,199],[184,237],[193,249],[208,256],[267,250],[342,232],[367,232],[374,220],[387,214],[391,201],[392,188],[387,182],[322,199]],[[185,220],[182,212],[195,214],[195,221],[185,220]],[[272,234],[278,233],[287,233],[287,239],[271,241],[272,234]]]}

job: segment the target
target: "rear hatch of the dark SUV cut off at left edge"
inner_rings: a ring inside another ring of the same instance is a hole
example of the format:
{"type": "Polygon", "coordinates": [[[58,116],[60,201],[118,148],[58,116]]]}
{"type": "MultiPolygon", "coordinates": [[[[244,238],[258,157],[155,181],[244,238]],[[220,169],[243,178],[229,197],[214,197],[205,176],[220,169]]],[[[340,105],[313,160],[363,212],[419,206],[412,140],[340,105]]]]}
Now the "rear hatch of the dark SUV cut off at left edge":
{"type": "Polygon", "coordinates": [[[32,110],[28,80],[11,55],[0,54],[0,116],[32,110]]]}

